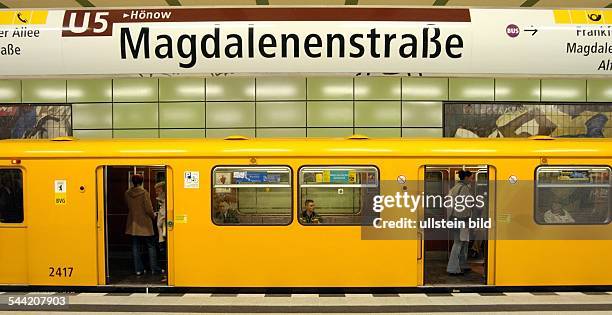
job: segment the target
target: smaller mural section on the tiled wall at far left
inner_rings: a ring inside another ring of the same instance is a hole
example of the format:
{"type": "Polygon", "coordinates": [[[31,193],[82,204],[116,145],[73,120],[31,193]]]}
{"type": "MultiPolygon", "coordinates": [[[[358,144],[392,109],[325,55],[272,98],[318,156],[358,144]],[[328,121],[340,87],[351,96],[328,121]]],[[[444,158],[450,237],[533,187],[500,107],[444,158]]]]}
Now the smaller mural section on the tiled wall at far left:
{"type": "Polygon", "coordinates": [[[70,105],[0,105],[0,139],[72,135],[70,105]]]}

